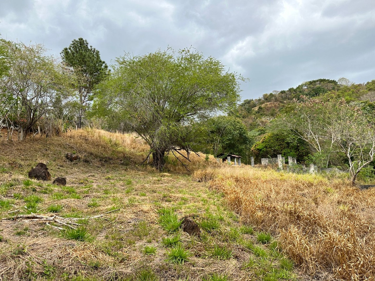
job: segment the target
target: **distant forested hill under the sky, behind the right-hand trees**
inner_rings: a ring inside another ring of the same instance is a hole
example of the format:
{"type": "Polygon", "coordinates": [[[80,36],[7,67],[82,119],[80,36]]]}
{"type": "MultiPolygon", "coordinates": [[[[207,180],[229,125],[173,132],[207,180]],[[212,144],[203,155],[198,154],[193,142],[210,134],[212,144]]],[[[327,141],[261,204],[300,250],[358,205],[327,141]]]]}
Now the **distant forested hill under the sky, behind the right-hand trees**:
{"type": "Polygon", "coordinates": [[[320,97],[323,101],[333,101],[344,98],[345,101],[375,101],[375,79],[363,84],[354,84],[346,78],[338,81],[317,79],[303,82],[296,88],[273,91],[263,94],[258,99],[246,99],[231,115],[241,118],[248,130],[262,133],[264,126],[280,113],[294,110],[295,102],[304,97],[320,97]]]}

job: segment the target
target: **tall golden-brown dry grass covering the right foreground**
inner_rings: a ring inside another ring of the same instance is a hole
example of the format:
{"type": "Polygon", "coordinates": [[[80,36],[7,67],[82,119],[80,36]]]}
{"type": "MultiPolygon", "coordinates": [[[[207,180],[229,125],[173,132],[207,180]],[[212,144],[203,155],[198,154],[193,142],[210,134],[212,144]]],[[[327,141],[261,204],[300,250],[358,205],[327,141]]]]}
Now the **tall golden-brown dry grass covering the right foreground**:
{"type": "MultiPolygon", "coordinates": [[[[204,178],[204,170],[196,174],[204,178]]],[[[305,272],[375,280],[374,188],[249,166],[223,166],[214,174],[210,187],[225,194],[240,220],[276,235],[305,272]]]]}

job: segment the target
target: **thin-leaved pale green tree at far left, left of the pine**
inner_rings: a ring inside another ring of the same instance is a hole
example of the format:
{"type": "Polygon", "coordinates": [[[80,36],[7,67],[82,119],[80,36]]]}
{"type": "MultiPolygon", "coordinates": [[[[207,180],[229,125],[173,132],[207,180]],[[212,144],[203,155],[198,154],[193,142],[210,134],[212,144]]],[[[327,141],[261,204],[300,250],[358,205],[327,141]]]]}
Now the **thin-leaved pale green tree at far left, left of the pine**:
{"type": "Polygon", "coordinates": [[[0,80],[0,99],[5,97],[1,112],[5,115],[1,118],[7,117],[18,127],[22,141],[41,118],[49,116],[67,82],[54,58],[45,55],[43,45],[8,42],[6,46],[7,70],[0,80]]]}

